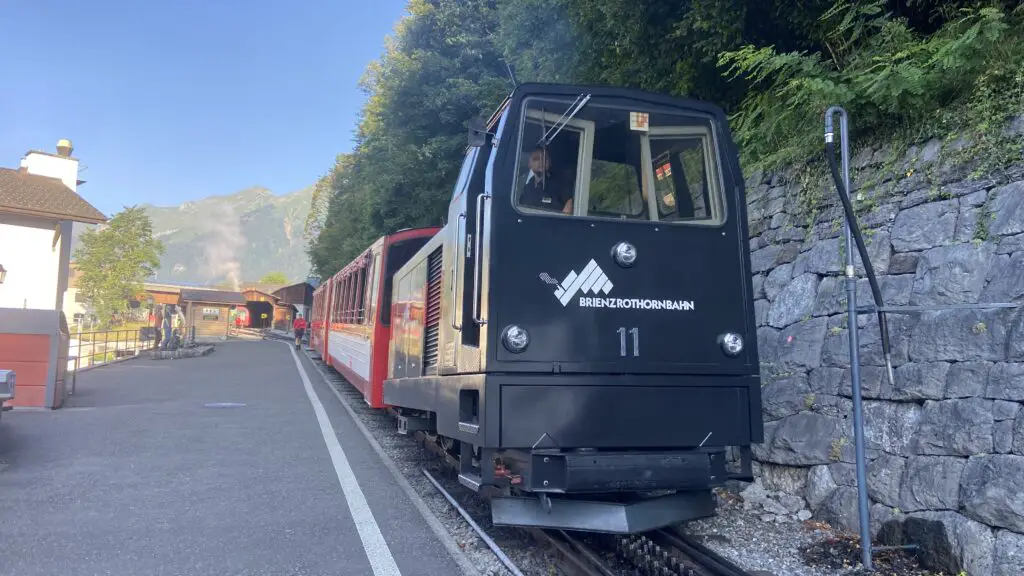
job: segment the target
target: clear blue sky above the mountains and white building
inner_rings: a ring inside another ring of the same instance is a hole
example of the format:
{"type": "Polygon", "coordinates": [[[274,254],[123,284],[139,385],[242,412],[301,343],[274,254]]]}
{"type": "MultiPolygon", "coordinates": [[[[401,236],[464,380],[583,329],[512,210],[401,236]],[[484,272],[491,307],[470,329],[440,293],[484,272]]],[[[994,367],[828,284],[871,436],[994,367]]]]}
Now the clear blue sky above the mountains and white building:
{"type": "Polygon", "coordinates": [[[71,138],[104,213],[311,184],[406,0],[0,2],[0,166],[71,138]]]}

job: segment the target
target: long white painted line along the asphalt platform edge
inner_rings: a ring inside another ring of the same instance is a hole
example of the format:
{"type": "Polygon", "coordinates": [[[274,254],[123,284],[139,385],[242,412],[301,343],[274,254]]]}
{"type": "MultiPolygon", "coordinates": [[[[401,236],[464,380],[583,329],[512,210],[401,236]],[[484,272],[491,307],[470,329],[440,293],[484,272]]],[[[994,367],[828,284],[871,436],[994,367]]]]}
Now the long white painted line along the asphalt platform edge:
{"type": "Polygon", "coordinates": [[[295,367],[299,369],[299,376],[302,377],[302,385],[306,388],[309,403],[313,405],[316,421],[321,425],[321,434],[324,435],[324,442],[327,443],[328,452],[331,453],[331,461],[334,462],[334,471],[338,475],[341,491],[345,494],[345,501],[348,502],[348,511],[352,515],[355,530],[358,531],[359,539],[362,540],[362,547],[367,551],[367,559],[370,561],[374,576],[401,576],[398,565],[395,564],[394,557],[391,556],[391,549],[388,548],[387,542],[384,541],[384,535],[381,534],[381,529],[377,526],[377,521],[374,520],[374,512],[370,509],[366,496],[362,495],[358,481],[355,480],[352,466],[349,465],[348,458],[345,457],[345,451],[341,449],[338,437],[334,434],[331,419],[328,418],[324,405],[321,404],[316,392],[313,390],[313,385],[309,382],[306,369],[302,367],[298,355],[295,354],[294,344],[289,342],[285,342],[285,344],[292,354],[295,367]]]}

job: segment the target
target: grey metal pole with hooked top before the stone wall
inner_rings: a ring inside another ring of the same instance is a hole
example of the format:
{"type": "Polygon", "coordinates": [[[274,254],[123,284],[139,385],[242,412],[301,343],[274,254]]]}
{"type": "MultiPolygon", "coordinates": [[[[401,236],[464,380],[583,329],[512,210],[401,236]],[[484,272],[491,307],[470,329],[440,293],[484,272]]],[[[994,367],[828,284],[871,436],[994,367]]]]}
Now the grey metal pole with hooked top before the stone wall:
{"type": "MultiPolygon", "coordinates": [[[[843,184],[847,194],[850,193],[850,131],[847,120],[847,113],[840,107],[831,107],[825,115],[826,133],[825,141],[834,138],[830,131],[831,116],[839,113],[839,129],[841,140],[841,154],[843,160],[843,184]]],[[[847,331],[850,333],[850,379],[853,387],[853,438],[856,450],[856,470],[857,470],[857,504],[860,516],[860,557],[864,568],[872,570],[871,567],[871,534],[870,517],[867,506],[867,474],[864,462],[864,413],[863,401],[860,389],[860,343],[857,327],[857,275],[854,266],[853,252],[853,231],[849,218],[844,218],[844,237],[846,241],[846,303],[847,303],[847,331]]]]}

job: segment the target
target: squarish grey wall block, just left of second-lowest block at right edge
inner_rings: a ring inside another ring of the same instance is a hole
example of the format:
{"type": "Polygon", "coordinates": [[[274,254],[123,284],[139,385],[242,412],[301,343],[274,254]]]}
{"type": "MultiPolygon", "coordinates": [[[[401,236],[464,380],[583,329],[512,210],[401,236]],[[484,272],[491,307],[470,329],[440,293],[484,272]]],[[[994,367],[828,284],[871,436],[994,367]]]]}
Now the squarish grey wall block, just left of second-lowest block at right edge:
{"type": "Polygon", "coordinates": [[[959,507],[959,483],[967,458],[913,456],[906,464],[899,488],[899,508],[955,510],[959,507]]]}

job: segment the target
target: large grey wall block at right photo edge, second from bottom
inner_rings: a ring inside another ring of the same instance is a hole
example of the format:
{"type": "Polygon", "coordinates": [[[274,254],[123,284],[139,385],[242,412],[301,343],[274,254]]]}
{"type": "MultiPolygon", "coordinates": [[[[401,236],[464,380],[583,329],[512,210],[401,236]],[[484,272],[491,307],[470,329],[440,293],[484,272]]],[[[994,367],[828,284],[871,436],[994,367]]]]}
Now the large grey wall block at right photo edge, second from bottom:
{"type": "Polygon", "coordinates": [[[1024,533],[1024,456],[972,456],[961,479],[964,513],[997,528],[1024,533]]]}

